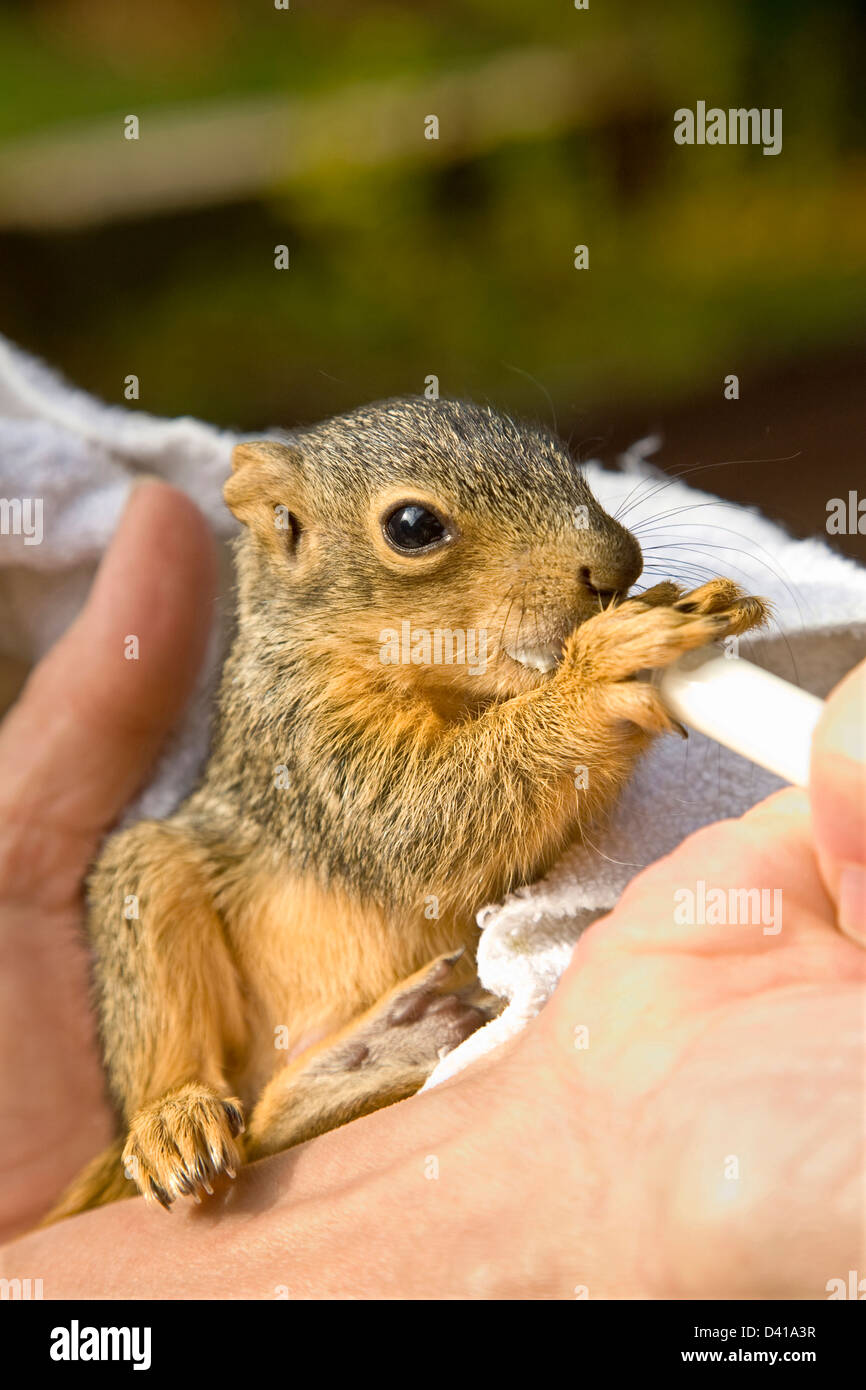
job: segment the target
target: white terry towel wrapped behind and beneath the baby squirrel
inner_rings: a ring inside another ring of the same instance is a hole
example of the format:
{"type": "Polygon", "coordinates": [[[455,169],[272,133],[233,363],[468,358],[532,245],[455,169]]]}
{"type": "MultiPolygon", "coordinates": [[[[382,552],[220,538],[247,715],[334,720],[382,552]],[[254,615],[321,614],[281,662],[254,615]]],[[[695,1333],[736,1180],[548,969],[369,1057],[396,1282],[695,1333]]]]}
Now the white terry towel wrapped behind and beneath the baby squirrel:
{"type": "MultiPolygon", "coordinates": [[[[225,541],[235,521],[221,488],[238,438],[256,436],[104,406],[0,338],[0,498],[40,498],[44,532],[40,545],[28,545],[24,535],[0,537],[0,655],[38,660],[70,624],[142,474],[186,491],[225,541]]],[[[726,574],[771,599],[771,634],[744,638],[742,655],[826,695],[866,655],[866,571],[819,539],[794,541],[758,512],[666,477],[646,463],[649,446],[626,456],[621,471],[585,464],[601,503],[619,512],[656,557],[645,581],[688,577],[698,584],[726,574]]],[[[816,527],[822,521],[816,517],[816,527]]],[[[218,619],[190,709],[128,821],[168,815],[202,770],[222,627],[218,619]]],[[[659,739],[592,848],[573,848],[544,883],[478,913],[480,977],[507,1006],[445,1056],[427,1086],[510,1037],[542,1008],[580,933],[616,903],[641,867],[699,826],[742,815],[778,785],[698,734],[687,744],[659,739]]]]}

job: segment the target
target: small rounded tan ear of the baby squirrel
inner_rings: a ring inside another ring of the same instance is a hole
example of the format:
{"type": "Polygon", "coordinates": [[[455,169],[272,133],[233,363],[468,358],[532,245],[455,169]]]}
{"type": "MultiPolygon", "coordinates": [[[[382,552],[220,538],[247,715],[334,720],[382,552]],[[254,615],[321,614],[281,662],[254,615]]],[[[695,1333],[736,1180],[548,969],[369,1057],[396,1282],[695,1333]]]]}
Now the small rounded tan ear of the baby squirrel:
{"type": "Polygon", "coordinates": [[[300,449],[275,439],[235,445],[222,496],[243,525],[285,550],[306,510],[300,449]]]}

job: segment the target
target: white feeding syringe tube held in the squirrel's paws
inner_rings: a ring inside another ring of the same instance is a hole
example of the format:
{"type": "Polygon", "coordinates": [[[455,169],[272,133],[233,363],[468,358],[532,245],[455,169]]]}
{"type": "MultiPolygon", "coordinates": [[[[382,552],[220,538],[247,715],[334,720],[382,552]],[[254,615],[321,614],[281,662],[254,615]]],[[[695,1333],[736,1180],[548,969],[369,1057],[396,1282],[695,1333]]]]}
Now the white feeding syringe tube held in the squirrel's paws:
{"type": "Polygon", "coordinates": [[[683,724],[795,787],[809,784],[812,734],[824,702],[719,648],[688,652],[655,681],[683,724]]]}

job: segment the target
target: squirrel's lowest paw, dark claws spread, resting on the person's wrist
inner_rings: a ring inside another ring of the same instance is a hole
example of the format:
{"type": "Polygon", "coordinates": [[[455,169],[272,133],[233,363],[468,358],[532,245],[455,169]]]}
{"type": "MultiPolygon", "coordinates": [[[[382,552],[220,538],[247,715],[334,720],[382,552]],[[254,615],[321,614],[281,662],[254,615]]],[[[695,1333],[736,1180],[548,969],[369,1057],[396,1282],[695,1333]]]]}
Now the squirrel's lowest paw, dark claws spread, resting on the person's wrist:
{"type": "Polygon", "coordinates": [[[175,1197],[213,1193],[222,1173],[240,1165],[235,1138],[243,1131],[240,1101],[192,1083],[143,1105],[132,1116],[122,1155],[126,1177],[165,1211],[175,1197]]]}

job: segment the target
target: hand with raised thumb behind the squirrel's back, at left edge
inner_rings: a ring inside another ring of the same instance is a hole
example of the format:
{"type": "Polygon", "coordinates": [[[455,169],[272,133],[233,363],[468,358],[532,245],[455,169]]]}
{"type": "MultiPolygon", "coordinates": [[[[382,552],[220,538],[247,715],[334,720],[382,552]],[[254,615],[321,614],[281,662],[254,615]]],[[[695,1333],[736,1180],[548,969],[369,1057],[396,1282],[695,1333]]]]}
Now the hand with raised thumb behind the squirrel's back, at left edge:
{"type": "Polygon", "coordinates": [[[214,589],[197,509],[139,485],[86,607],[0,726],[0,1238],[111,1137],[82,880],[189,699],[214,589]]]}

